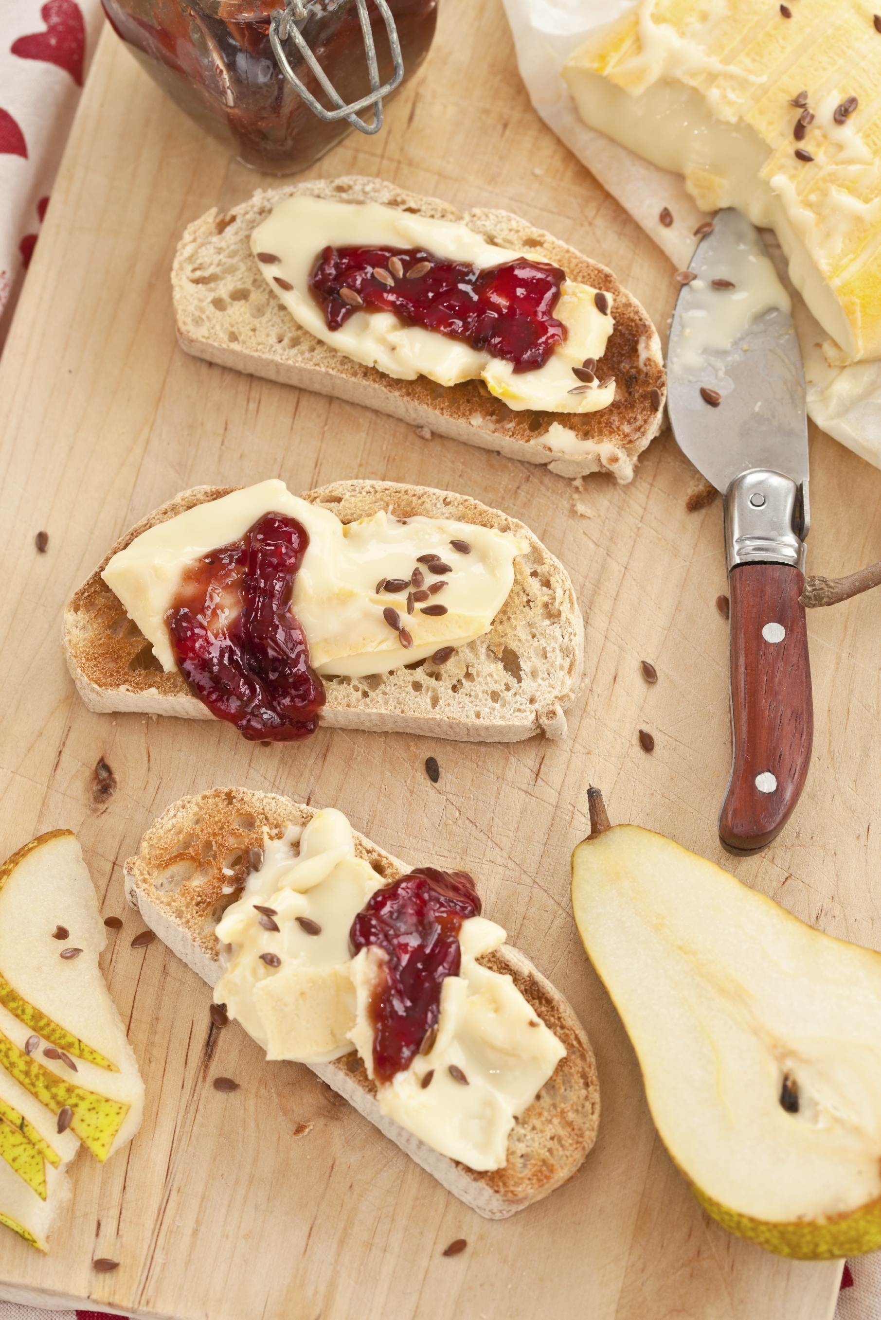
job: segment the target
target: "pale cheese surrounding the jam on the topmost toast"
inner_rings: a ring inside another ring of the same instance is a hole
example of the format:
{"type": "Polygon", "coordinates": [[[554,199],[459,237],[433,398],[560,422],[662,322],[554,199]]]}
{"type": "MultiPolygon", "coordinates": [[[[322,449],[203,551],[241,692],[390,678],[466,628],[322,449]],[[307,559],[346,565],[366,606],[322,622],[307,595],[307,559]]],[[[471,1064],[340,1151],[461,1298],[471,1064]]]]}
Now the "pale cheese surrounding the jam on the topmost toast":
{"type": "Polygon", "coordinates": [[[399,380],[428,376],[441,385],[482,378],[491,393],[509,408],[539,408],[546,412],[586,413],[608,408],[614,383],[596,384],[572,395],[572,375],[588,358],[602,358],[613,330],[614,300],[606,294],[610,314],[598,312],[594,289],[564,281],[553,315],[567,326],[567,339],[536,371],[514,372],[510,362],[490,358],[458,339],[421,326],[408,326],[392,312],[355,312],[338,330],[330,330],[309,290],[309,276],[325,247],[421,247],[450,261],[468,261],[478,269],[522,257],[522,252],[493,247],[465,224],[412,215],[376,202],[338,202],[317,197],[291,197],[280,202],[251,235],[254,253],[271,252],[280,260],[262,264],[267,284],[292,317],[316,338],[367,367],[376,367],[399,380]],[[280,288],[277,279],[289,284],[280,288]]]}

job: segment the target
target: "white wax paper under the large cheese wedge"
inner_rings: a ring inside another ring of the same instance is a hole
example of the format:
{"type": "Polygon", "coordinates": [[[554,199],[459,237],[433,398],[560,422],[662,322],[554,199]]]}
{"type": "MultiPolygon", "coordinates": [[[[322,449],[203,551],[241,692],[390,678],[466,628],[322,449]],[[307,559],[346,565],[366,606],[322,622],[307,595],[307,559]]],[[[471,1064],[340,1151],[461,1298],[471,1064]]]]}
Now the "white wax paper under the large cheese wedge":
{"type": "MultiPolygon", "coordinates": [[[[560,69],[590,32],[610,22],[633,0],[502,0],[507,13],[520,77],[536,111],[557,137],[575,152],[602,186],[630,211],[667,253],[678,271],[695,249],[693,230],[707,216],[686,191],[679,174],[650,165],[581,120],[560,69]],[[674,215],[670,228],[659,220],[663,207],[674,215]]],[[[786,263],[775,242],[767,244],[778,269],[786,263]]],[[[851,367],[829,367],[820,351],[827,337],[803,298],[793,293],[808,416],[828,436],[861,458],[881,467],[881,360],[851,367]]]]}

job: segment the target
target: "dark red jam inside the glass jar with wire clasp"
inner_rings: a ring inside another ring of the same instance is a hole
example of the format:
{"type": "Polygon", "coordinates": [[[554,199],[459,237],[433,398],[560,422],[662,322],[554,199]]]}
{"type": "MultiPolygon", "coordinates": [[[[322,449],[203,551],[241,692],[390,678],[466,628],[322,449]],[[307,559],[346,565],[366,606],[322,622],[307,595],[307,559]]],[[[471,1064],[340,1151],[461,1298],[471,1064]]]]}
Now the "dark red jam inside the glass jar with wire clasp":
{"type": "MultiPolygon", "coordinates": [[[[345,119],[318,119],[279,67],[269,45],[269,18],[281,0],[102,4],[116,36],[149,75],[244,165],[268,174],[292,174],[351,132],[345,119]]],[[[398,28],[405,82],[432,44],[437,0],[388,0],[388,8],[398,28]]],[[[305,0],[305,11],[300,30],[337,92],[347,104],[369,95],[367,58],[354,0],[305,0]]],[[[369,4],[369,13],[384,84],[392,73],[388,36],[375,4],[369,4]]],[[[285,53],[306,90],[333,108],[293,41],[285,44],[285,53]]],[[[363,117],[369,120],[370,114],[363,117]]]]}

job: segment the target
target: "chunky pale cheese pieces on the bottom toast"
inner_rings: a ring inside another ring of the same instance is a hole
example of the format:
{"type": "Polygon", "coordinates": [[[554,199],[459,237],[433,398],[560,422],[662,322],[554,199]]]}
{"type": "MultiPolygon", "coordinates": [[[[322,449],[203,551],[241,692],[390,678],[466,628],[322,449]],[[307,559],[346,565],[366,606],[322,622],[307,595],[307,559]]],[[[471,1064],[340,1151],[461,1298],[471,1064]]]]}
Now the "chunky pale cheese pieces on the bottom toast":
{"type": "MultiPolygon", "coordinates": [[[[280,840],[264,840],[263,866],[217,925],[223,975],[214,1002],[226,1005],[267,1059],[325,1063],[354,1044],[372,1077],[369,1005],[378,950],[362,949],[351,960],[349,931],[382,884],[355,857],[351,825],[333,808],[302,830],[292,825],[280,840]],[[269,909],[277,931],[260,923],[258,907],[269,909]],[[262,954],[277,957],[277,965],[262,954]]],[[[444,981],[435,1045],[379,1086],[379,1106],[442,1155],[476,1170],[501,1168],[514,1122],[565,1049],[511,977],[477,961],[505,942],[502,927],[472,917],[458,939],[461,970],[444,981]],[[465,1073],[466,1086],[454,1081],[450,1064],[465,1073]],[[429,1069],[435,1077],[423,1089],[429,1069]]]]}

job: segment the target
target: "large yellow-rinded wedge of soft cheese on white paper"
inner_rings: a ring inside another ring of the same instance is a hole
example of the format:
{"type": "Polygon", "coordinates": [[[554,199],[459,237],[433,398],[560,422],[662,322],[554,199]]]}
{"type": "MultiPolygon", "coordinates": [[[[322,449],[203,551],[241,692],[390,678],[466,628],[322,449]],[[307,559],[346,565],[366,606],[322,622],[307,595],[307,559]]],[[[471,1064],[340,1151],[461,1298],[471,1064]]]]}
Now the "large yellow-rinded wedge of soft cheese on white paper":
{"type": "Polygon", "coordinates": [[[881,34],[866,0],[790,9],[641,0],[563,75],[585,123],[703,210],[775,230],[840,366],[881,356],[881,34]]]}

